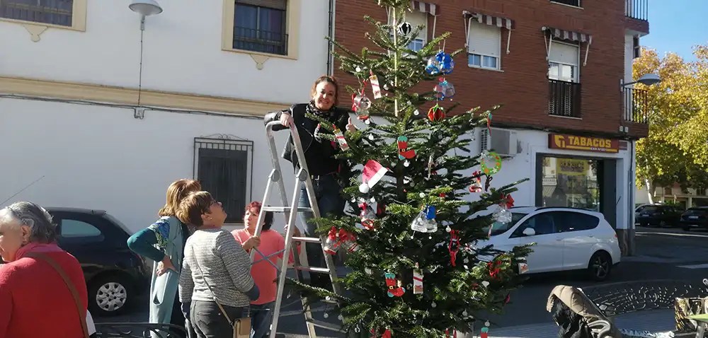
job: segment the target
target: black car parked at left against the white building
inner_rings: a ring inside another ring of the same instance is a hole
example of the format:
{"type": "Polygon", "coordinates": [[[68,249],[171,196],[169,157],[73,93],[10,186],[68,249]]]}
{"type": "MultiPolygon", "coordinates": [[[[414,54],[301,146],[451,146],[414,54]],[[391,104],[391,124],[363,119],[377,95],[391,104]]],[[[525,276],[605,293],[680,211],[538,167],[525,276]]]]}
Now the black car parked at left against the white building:
{"type": "Polygon", "coordinates": [[[149,289],[152,271],[128,249],[130,231],[120,221],[103,210],[46,209],[58,226],[59,246],[84,269],[91,315],[119,315],[149,289]]]}

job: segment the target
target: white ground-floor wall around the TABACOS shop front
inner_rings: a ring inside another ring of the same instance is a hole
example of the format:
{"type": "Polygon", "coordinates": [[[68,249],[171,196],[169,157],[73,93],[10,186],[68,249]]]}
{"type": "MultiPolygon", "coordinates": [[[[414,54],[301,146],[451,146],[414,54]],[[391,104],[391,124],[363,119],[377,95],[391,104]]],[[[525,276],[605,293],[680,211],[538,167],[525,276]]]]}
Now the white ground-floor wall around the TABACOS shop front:
{"type": "MultiPolygon", "coordinates": [[[[632,162],[632,146],[629,145],[628,150],[619,150],[618,153],[598,153],[590,151],[569,151],[561,150],[555,148],[549,148],[548,132],[540,132],[535,130],[515,130],[517,133],[517,139],[521,146],[521,151],[503,161],[501,165],[501,170],[493,175],[493,180],[491,181],[491,187],[502,187],[503,185],[508,185],[510,182],[517,180],[522,180],[524,178],[529,178],[527,182],[523,182],[517,185],[518,192],[513,192],[511,196],[514,199],[515,206],[535,206],[536,205],[536,165],[537,165],[537,154],[544,153],[550,156],[576,156],[578,158],[598,158],[598,159],[614,159],[617,160],[617,196],[619,200],[606,201],[605,203],[617,203],[617,218],[616,224],[618,229],[627,229],[629,223],[632,221],[629,215],[629,210],[634,210],[632,207],[631,199],[629,199],[629,194],[634,193],[634,190],[629,189],[628,177],[633,174],[630,173],[632,162]]],[[[492,132],[493,133],[493,132],[492,132]]],[[[475,141],[472,142],[470,149],[474,154],[479,153],[479,134],[476,133],[475,141]]],[[[474,170],[479,170],[478,168],[474,170]]],[[[472,171],[474,171],[472,170],[472,171]]],[[[472,175],[472,172],[469,173],[472,175]]],[[[541,177],[538,177],[541,179],[541,177]]],[[[484,182],[483,182],[484,183],[484,182]]],[[[600,189],[602,187],[600,186],[600,189]]],[[[474,198],[474,194],[470,194],[471,198],[474,198]]]]}

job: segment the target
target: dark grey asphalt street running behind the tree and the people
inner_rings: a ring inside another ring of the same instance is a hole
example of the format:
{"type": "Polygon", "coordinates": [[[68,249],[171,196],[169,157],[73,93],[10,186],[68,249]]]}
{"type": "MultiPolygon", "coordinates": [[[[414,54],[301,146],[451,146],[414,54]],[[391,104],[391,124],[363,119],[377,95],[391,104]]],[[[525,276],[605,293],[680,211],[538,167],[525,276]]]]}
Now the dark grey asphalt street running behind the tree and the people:
{"type": "MultiPolygon", "coordinates": [[[[620,281],[638,281],[651,279],[677,279],[701,284],[702,279],[708,277],[708,233],[702,231],[685,232],[676,228],[637,228],[636,252],[632,257],[622,257],[622,262],[614,270],[610,278],[603,283],[616,283],[620,281]]],[[[546,312],[545,306],[548,295],[558,284],[572,286],[590,286],[594,283],[588,281],[582,273],[556,273],[532,276],[522,288],[511,294],[511,302],[501,314],[489,317],[492,323],[491,337],[532,337],[530,330],[552,330],[557,332],[552,318],[546,312]],[[540,328],[539,328],[540,327],[540,328]],[[546,327],[543,329],[543,327],[546,327]],[[515,330],[518,328],[519,330],[515,330]],[[494,332],[524,331],[525,334],[506,334],[498,336],[494,332]]],[[[284,301],[284,303],[293,303],[284,301]]],[[[96,322],[144,322],[147,321],[147,299],[140,300],[137,306],[127,315],[118,317],[99,317],[96,322]]],[[[294,303],[284,310],[298,310],[299,303],[294,303]]],[[[478,314],[477,317],[482,315],[478,314]]],[[[654,313],[652,316],[661,316],[654,313]]],[[[649,316],[651,317],[651,316],[649,316]]],[[[649,320],[644,314],[645,321],[649,320]]],[[[649,321],[661,323],[661,326],[673,322],[673,313],[663,314],[663,320],[656,318],[649,321]]],[[[323,313],[315,313],[315,318],[328,322],[336,322],[336,315],[324,319],[323,313]]],[[[631,324],[633,317],[621,318],[631,324]]],[[[653,318],[653,317],[651,317],[653,318]]],[[[637,327],[641,328],[641,327],[637,327]]],[[[667,327],[666,330],[671,330],[667,327]]],[[[278,332],[287,334],[286,337],[302,337],[307,334],[302,315],[280,317],[278,332]]],[[[342,337],[331,331],[318,329],[321,337],[342,337]]],[[[547,333],[546,333],[547,334],[547,333]]],[[[557,333],[549,337],[554,337],[557,333]]],[[[542,337],[544,334],[539,335],[542,337]]]]}

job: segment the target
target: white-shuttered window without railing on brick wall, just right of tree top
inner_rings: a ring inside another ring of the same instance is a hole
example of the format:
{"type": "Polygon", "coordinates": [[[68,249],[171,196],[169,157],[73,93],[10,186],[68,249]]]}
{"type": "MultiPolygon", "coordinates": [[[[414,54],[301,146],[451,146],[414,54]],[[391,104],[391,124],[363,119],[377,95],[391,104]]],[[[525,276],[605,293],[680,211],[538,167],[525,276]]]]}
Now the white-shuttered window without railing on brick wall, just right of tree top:
{"type": "Polygon", "coordinates": [[[467,64],[482,69],[501,69],[501,28],[470,21],[467,64]]]}

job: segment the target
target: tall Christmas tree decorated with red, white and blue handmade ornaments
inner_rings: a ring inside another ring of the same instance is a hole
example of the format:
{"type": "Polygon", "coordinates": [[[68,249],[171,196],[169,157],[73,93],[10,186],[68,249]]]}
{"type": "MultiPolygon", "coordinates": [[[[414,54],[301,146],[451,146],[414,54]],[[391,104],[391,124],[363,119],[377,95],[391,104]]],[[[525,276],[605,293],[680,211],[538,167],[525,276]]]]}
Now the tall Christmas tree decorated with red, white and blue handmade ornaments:
{"type": "Polygon", "coordinates": [[[346,266],[353,272],[338,279],[341,295],[289,283],[311,301],[337,301],[351,336],[447,337],[452,330],[469,332],[474,322],[484,331],[489,322],[476,314],[498,312],[508,303],[522,281],[519,264],[530,252],[477,242],[489,238],[492,223],[510,221],[510,193],[523,182],[489,187],[492,175],[503,170],[502,159],[468,148],[474,130],[488,129],[499,107],[459,114],[452,112],[456,105],[444,107],[450,100],[443,99],[455,95],[445,74],[452,73],[462,50],[444,50],[449,33],[417,52],[409,49],[422,29],[405,21],[411,1],[377,3],[392,18],[389,24],[365,17],[375,26],[366,36],[380,50],[357,54],[331,41],[341,69],[360,79],[360,88],[348,89],[365,127],[346,132],[344,139],[331,128],[333,134],[321,135],[339,141],[338,156],[353,165],[350,185],[342,191],[351,203],[345,216],[314,221],[328,234],[325,250],[349,251],[346,266]],[[426,82],[433,91],[413,93],[411,88],[426,82]],[[493,214],[473,217],[490,206],[493,214]]]}

